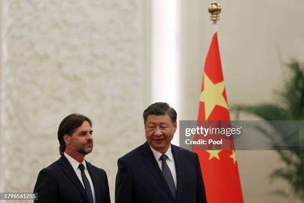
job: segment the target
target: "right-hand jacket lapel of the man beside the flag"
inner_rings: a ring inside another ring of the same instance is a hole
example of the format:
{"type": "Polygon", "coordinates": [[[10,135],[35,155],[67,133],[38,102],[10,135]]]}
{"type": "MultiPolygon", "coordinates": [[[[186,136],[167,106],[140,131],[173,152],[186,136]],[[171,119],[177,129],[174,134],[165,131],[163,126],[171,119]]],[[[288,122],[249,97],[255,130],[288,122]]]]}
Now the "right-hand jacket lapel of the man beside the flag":
{"type": "Polygon", "coordinates": [[[172,154],[174,157],[175,162],[175,169],[176,169],[176,181],[177,181],[177,190],[176,190],[176,202],[178,203],[181,195],[182,195],[182,188],[183,188],[183,167],[182,167],[182,160],[181,156],[179,155],[179,147],[175,145],[171,145],[172,154]]]}

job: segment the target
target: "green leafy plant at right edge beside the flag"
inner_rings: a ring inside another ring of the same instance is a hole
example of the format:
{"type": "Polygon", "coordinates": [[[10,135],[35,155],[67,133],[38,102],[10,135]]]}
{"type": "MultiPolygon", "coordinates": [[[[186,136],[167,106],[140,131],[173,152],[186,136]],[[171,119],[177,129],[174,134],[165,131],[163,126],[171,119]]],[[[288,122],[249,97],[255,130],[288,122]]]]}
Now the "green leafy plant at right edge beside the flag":
{"type": "MultiPolygon", "coordinates": [[[[232,110],[236,110],[237,113],[246,112],[256,115],[266,121],[304,120],[304,66],[293,60],[287,64],[287,67],[288,72],[284,86],[281,91],[276,92],[278,96],[276,103],[234,105],[232,110]]],[[[267,136],[271,138],[271,135],[267,136]]],[[[285,163],[285,167],[273,171],[270,175],[271,180],[283,179],[287,181],[296,198],[304,201],[304,151],[299,149],[280,150],[279,148],[275,148],[275,150],[285,163]]],[[[274,193],[286,198],[290,197],[284,189],[274,191],[274,193]]]]}

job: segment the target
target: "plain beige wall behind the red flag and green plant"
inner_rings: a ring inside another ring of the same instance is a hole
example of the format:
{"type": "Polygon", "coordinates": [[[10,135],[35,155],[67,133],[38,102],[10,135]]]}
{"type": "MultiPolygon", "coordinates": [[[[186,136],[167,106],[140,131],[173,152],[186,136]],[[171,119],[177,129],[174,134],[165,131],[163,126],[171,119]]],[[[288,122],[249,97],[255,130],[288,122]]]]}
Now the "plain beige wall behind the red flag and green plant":
{"type": "MultiPolygon", "coordinates": [[[[218,37],[229,104],[276,102],[273,93],[283,81],[280,60],[288,62],[295,57],[304,61],[304,1],[219,2],[223,10],[218,37]]],[[[210,3],[181,0],[182,119],[197,118],[203,67],[213,33],[207,9],[210,3]]],[[[231,119],[235,119],[233,113],[231,119]]],[[[242,115],[240,119],[252,117],[242,115]]],[[[269,181],[269,174],[282,166],[275,152],[238,151],[237,158],[246,203],[286,203],[268,195],[289,187],[285,182],[269,181]]]]}

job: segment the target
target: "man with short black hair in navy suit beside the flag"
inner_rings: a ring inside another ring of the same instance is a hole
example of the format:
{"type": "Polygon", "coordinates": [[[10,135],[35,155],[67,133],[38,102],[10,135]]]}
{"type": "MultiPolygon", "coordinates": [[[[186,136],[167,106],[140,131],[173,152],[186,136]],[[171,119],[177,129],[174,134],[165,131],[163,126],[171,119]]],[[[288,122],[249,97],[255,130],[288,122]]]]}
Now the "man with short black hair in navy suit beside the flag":
{"type": "Polygon", "coordinates": [[[170,144],[176,111],[153,103],[144,124],[147,142],[118,159],[115,203],[207,203],[198,155],[170,144]]]}

